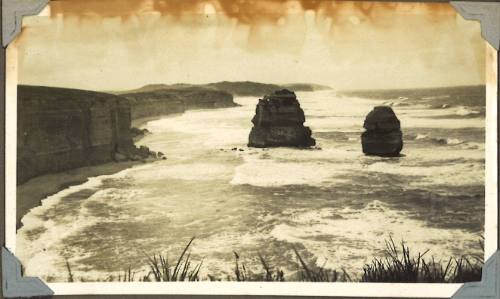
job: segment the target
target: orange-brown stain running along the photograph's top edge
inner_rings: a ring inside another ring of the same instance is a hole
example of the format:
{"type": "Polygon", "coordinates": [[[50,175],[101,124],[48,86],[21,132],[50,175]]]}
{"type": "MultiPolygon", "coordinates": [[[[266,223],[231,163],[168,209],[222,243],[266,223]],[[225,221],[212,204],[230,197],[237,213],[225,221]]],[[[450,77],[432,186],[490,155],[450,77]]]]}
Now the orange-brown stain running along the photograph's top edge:
{"type": "Polygon", "coordinates": [[[211,6],[214,12],[251,24],[277,21],[289,14],[311,10],[336,18],[342,15],[362,16],[373,20],[386,14],[423,14],[430,20],[455,16],[455,10],[447,3],[402,3],[329,0],[56,0],[50,3],[53,15],[80,17],[124,17],[159,13],[179,16],[203,14],[211,6]]]}

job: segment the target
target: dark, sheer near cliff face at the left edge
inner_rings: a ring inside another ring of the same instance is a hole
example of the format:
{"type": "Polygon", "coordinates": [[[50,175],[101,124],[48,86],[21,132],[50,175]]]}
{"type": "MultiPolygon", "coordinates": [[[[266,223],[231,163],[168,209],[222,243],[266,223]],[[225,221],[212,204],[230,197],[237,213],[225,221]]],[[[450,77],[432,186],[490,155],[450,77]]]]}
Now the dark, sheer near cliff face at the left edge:
{"type": "Polygon", "coordinates": [[[18,86],[17,183],[50,172],[105,163],[135,148],[130,105],[118,96],[18,86]]]}

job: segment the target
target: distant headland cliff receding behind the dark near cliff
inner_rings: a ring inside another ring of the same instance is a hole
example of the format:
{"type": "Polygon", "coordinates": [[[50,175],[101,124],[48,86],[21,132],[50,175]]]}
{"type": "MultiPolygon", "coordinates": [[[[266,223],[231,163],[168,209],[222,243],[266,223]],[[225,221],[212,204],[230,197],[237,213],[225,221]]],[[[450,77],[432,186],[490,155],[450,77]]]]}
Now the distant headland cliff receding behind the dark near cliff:
{"type": "Polygon", "coordinates": [[[182,113],[189,109],[234,107],[230,93],[200,87],[122,94],[130,102],[132,119],[182,113]]]}

